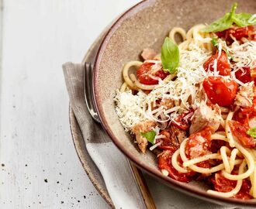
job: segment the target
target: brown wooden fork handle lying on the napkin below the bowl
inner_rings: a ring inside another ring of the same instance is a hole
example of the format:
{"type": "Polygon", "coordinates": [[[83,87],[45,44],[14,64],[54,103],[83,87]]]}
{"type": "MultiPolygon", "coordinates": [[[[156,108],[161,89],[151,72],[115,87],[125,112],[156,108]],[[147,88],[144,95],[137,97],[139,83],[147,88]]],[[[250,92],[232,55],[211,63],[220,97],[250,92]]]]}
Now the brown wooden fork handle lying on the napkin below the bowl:
{"type": "Polygon", "coordinates": [[[137,168],[137,166],[135,166],[132,162],[130,162],[130,160],[128,160],[128,162],[130,163],[130,167],[133,171],[134,178],[137,181],[137,187],[140,190],[140,194],[144,200],[144,204],[145,204],[146,208],[147,209],[156,209],[157,207],[154,204],[154,199],[150,194],[150,190],[147,187],[147,183],[144,180],[144,176],[143,176],[141,170],[139,170],[137,168]]]}

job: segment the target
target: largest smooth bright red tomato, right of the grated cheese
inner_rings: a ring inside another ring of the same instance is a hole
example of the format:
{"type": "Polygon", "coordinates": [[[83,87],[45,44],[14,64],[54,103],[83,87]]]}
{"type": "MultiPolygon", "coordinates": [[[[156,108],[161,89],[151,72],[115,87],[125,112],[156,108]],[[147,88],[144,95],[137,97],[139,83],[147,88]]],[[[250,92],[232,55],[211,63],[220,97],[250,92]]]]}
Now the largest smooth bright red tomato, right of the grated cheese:
{"type": "Polygon", "coordinates": [[[225,81],[223,77],[206,77],[202,86],[209,100],[220,106],[232,105],[237,94],[237,83],[225,81]]]}

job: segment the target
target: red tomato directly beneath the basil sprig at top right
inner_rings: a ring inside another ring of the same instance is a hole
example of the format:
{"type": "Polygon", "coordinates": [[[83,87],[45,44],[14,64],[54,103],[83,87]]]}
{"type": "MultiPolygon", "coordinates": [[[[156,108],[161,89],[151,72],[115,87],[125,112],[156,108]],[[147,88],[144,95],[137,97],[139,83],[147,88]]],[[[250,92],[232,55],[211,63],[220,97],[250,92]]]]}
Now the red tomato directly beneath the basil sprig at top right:
{"type": "Polygon", "coordinates": [[[232,37],[234,37],[237,40],[240,40],[242,38],[249,38],[251,40],[254,40],[254,26],[246,26],[246,27],[232,27],[230,29],[223,30],[221,32],[216,33],[217,36],[220,38],[223,38],[226,40],[227,44],[231,44],[234,42],[232,37]]]}

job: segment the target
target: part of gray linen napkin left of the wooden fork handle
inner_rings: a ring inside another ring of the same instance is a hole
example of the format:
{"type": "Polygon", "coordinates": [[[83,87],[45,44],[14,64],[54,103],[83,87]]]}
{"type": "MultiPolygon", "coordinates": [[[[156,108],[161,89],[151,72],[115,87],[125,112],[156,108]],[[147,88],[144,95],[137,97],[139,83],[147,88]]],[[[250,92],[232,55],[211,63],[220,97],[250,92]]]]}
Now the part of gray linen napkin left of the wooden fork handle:
{"type": "Polygon", "coordinates": [[[83,88],[83,67],[81,64],[65,63],[63,69],[71,108],[81,128],[86,149],[102,173],[113,204],[116,208],[144,208],[127,159],[88,113],[83,88]]]}

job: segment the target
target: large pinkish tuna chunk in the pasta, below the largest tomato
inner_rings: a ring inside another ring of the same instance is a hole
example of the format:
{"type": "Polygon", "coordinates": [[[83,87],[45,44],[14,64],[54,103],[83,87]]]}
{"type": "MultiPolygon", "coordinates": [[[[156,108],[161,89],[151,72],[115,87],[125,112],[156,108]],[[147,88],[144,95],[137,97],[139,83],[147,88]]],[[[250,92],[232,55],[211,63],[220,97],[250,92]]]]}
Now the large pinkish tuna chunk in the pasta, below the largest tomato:
{"type": "Polygon", "coordinates": [[[192,124],[189,128],[189,133],[192,134],[206,126],[212,127],[213,132],[216,132],[222,120],[219,105],[208,106],[202,101],[199,108],[195,110],[192,116],[192,124]]]}

